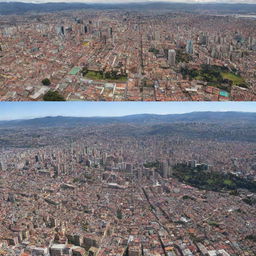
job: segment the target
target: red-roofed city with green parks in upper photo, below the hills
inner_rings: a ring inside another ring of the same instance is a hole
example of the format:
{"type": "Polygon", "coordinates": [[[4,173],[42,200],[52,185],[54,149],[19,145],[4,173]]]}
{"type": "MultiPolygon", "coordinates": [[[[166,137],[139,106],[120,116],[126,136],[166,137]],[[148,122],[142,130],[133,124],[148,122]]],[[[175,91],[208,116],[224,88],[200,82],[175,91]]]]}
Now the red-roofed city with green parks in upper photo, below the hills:
{"type": "Polygon", "coordinates": [[[0,100],[255,100],[255,14],[189,8],[0,15],[0,100]]]}

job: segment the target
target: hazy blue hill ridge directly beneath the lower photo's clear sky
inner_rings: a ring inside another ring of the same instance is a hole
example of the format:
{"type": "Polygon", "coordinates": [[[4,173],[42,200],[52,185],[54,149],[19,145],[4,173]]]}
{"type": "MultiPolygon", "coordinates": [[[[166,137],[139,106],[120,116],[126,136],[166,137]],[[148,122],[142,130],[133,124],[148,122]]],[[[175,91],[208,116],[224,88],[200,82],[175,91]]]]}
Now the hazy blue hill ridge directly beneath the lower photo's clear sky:
{"type": "Polygon", "coordinates": [[[154,115],[140,114],[123,117],[43,117],[28,120],[0,121],[1,127],[68,127],[102,124],[154,125],[180,122],[203,122],[222,124],[256,124],[256,113],[244,112],[192,112],[186,114],[154,115]]]}

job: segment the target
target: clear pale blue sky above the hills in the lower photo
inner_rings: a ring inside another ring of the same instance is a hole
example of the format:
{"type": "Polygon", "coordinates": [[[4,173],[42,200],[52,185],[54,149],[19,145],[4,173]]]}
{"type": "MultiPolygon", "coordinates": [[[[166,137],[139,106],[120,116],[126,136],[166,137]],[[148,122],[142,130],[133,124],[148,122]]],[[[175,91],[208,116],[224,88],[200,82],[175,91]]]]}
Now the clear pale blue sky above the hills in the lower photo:
{"type": "Polygon", "coordinates": [[[0,120],[44,116],[124,116],[194,111],[256,112],[256,102],[0,102],[0,120]]]}

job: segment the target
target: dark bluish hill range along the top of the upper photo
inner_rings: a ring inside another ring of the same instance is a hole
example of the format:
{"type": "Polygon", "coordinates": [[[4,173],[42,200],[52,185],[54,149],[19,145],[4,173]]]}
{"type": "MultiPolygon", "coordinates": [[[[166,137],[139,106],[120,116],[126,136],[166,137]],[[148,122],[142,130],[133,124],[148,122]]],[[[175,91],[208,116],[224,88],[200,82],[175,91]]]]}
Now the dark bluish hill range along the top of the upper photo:
{"type": "Polygon", "coordinates": [[[65,10],[81,9],[136,9],[136,10],[170,10],[185,12],[211,11],[218,13],[256,13],[256,4],[186,4],[166,2],[141,2],[141,3],[119,3],[119,4],[93,4],[93,3],[23,3],[23,2],[1,2],[0,15],[25,14],[29,12],[57,12],[65,10]]]}

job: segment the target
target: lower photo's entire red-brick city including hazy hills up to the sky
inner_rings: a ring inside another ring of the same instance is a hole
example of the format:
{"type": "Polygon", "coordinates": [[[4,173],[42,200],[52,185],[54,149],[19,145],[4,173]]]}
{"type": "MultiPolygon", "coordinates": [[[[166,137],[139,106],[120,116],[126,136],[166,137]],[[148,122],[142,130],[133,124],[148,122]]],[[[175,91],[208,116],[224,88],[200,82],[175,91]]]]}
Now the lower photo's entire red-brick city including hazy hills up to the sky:
{"type": "Polygon", "coordinates": [[[255,120],[0,122],[0,255],[255,255],[255,120]]]}

